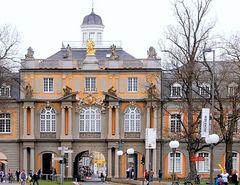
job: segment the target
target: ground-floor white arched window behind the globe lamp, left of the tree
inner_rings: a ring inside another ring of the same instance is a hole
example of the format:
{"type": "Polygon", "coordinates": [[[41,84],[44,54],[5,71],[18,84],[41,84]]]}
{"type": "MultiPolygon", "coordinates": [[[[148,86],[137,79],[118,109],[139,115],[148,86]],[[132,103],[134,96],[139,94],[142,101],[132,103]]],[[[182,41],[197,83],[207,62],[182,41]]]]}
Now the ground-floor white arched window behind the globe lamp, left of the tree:
{"type": "MultiPolygon", "coordinates": [[[[174,172],[182,173],[182,160],[183,154],[179,151],[175,152],[175,160],[174,160],[174,172]]],[[[168,173],[173,172],[173,152],[168,154],[168,173]]]]}

